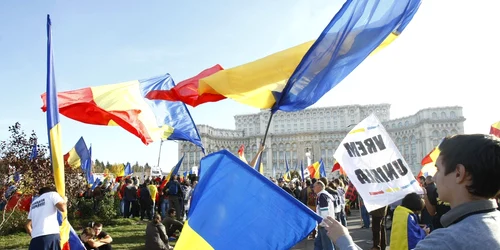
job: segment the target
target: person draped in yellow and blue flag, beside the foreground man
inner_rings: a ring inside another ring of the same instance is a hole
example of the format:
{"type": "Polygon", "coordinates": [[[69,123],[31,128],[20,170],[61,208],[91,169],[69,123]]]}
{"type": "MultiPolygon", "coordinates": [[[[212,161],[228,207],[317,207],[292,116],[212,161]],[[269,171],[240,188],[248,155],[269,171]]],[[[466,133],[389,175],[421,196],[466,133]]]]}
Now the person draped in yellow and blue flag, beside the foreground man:
{"type": "Polygon", "coordinates": [[[417,215],[424,209],[424,200],[416,193],[407,194],[394,210],[391,229],[391,249],[413,249],[429,234],[421,228],[417,215]]]}

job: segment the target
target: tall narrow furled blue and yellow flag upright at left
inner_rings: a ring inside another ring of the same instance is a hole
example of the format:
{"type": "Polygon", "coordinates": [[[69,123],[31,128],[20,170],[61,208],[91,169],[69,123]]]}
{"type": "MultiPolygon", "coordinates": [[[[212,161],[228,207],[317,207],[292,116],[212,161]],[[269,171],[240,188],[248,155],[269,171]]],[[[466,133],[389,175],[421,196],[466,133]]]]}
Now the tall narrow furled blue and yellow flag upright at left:
{"type": "MultiPolygon", "coordinates": [[[[59,125],[59,108],[57,105],[57,90],[54,78],[52,57],[52,32],[50,16],[47,15],[47,132],[49,136],[50,159],[54,171],[54,182],[59,195],[66,196],[64,180],[64,158],[61,145],[61,128],[59,125]]],[[[61,248],[63,250],[84,250],[80,238],[68,222],[67,213],[63,213],[60,223],[61,248]]]]}

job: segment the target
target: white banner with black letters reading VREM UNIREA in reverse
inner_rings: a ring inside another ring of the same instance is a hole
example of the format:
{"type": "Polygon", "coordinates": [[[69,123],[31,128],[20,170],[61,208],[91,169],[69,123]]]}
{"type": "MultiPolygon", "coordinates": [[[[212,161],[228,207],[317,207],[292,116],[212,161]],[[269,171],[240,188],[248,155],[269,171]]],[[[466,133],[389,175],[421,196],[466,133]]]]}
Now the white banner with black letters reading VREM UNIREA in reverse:
{"type": "Polygon", "coordinates": [[[335,159],[373,211],[423,190],[398,148],[371,114],[356,125],[335,151],[335,159]]]}

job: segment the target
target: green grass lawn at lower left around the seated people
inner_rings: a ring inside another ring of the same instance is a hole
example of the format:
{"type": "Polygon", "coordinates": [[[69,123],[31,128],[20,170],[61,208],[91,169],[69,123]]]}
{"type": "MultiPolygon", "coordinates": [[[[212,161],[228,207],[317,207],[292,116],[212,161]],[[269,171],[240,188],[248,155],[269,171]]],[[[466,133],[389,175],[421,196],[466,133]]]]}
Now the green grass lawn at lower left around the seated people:
{"type": "MultiPolygon", "coordinates": [[[[133,220],[132,225],[104,226],[103,231],[113,237],[113,249],[146,249],[146,221],[133,220]]],[[[76,230],[80,233],[81,230],[76,230]]],[[[31,238],[26,233],[0,237],[0,249],[27,249],[31,238]]],[[[170,245],[174,246],[171,242],[170,245]]]]}

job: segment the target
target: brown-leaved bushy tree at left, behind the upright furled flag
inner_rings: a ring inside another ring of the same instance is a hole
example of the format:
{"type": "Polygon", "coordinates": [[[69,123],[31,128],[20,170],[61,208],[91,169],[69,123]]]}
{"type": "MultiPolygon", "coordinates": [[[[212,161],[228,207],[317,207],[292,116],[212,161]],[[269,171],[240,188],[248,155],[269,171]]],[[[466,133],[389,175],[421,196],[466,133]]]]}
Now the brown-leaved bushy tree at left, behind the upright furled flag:
{"type": "MultiPolygon", "coordinates": [[[[33,195],[44,186],[54,186],[47,145],[37,144],[37,156],[30,160],[33,144],[37,142],[36,133],[32,131],[28,137],[19,122],[10,126],[9,132],[9,139],[0,142],[0,171],[3,176],[17,172],[21,176],[17,183],[18,190],[23,195],[33,195]]],[[[85,177],[80,168],[65,168],[65,182],[66,196],[70,198],[83,189],[85,177]]]]}

